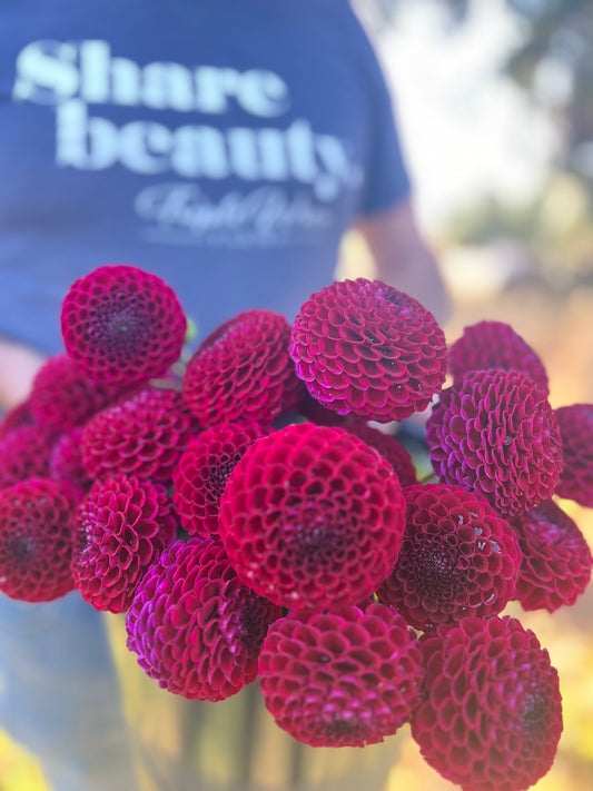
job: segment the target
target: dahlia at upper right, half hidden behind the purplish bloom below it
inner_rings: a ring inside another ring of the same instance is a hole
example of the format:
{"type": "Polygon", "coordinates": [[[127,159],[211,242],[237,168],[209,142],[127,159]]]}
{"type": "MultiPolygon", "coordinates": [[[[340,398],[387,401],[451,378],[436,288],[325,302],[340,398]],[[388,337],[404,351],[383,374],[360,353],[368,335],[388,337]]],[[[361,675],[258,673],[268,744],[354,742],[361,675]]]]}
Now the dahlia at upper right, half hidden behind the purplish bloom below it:
{"type": "Polygon", "coordinates": [[[454,383],[474,370],[498,368],[526,374],[547,397],[547,373],[537,354],[503,322],[478,322],[465,327],[449,348],[447,368],[454,383]]]}

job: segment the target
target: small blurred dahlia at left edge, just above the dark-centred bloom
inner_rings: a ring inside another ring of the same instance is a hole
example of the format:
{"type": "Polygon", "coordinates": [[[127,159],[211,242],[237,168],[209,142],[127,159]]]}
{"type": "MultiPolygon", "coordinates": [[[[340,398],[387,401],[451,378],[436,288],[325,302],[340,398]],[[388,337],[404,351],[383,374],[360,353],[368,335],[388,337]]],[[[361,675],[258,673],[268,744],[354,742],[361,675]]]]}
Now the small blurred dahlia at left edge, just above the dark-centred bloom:
{"type": "Polygon", "coordinates": [[[23,424],[0,439],[0,491],[27,478],[49,475],[49,457],[58,439],[52,426],[23,424]]]}

